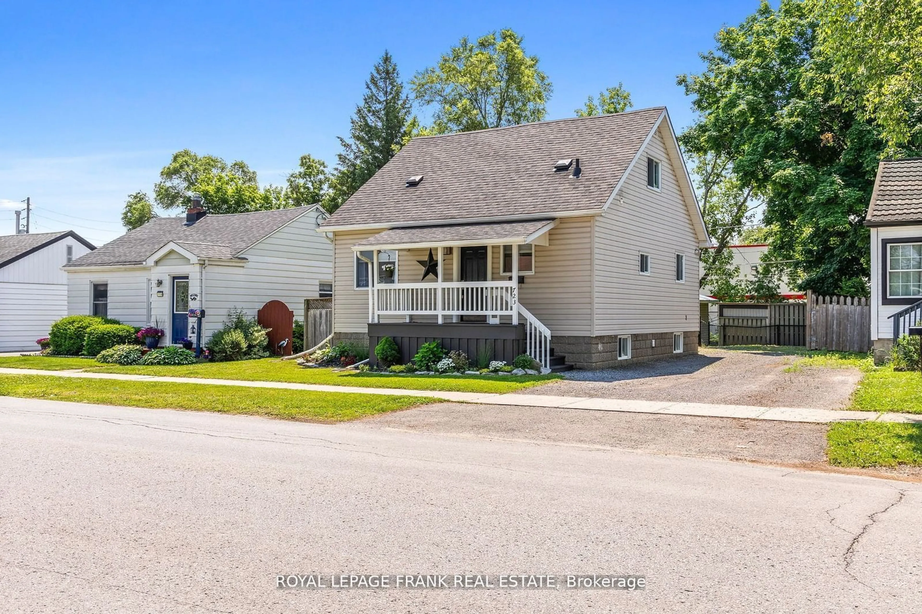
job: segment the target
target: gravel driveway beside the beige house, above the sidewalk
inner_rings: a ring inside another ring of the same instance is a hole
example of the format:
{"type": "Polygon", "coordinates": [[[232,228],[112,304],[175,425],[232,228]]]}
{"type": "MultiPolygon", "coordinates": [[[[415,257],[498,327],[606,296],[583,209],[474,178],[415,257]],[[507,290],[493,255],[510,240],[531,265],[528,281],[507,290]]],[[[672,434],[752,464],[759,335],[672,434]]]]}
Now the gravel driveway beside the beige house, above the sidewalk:
{"type": "Polygon", "coordinates": [[[536,386],[528,394],[841,409],[861,379],[861,372],[852,368],[805,367],[785,372],[798,357],[780,352],[699,351],[697,356],[651,360],[620,369],[567,372],[565,380],[536,386]]]}

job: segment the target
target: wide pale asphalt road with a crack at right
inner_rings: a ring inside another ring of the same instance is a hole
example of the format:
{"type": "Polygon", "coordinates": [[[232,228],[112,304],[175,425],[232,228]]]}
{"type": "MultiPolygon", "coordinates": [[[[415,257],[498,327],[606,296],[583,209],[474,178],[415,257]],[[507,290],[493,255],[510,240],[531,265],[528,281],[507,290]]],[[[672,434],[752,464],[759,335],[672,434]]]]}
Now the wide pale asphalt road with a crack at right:
{"type": "Polygon", "coordinates": [[[5,612],[918,612],[922,487],[599,446],[0,397],[5,612]],[[278,573],[632,573],[644,591],[278,573]]]}

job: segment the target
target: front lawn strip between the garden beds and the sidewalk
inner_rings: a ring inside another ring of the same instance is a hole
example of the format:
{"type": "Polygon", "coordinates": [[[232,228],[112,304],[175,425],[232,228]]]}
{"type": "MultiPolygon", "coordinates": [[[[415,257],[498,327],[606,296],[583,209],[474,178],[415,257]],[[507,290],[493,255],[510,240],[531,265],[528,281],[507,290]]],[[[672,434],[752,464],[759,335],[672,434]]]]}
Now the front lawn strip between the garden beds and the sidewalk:
{"type": "Polygon", "coordinates": [[[45,356],[0,357],[0,367],[46,369],[46,364],[60,369],[85,369],[93,372],[143,373],[174,377],[210,377],[247,382],[294,382],[361,386],[362,388],[405,388],[477,393],[510,393],[522,388],[558,379],[559,375],[386,375],[372,372],[333,372],[332,369],[304,369],[294,360],[241,360],[238,362],[201,362],[186,366],[103,365],[86,359],[55,359],[45,356]]]}

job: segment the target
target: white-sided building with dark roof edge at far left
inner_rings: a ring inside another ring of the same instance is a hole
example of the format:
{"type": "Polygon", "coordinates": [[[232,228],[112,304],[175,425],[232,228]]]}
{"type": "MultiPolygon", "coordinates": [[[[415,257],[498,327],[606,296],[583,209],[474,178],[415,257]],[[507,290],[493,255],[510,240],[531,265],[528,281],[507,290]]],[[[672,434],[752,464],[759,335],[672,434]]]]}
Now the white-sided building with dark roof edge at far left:
{"type": "Polygon", "coordinates": [[[0,351],[37,351],[35,344],[67,314],[70,261],[95,247],[73,230],[0,237],[0,351]]]}

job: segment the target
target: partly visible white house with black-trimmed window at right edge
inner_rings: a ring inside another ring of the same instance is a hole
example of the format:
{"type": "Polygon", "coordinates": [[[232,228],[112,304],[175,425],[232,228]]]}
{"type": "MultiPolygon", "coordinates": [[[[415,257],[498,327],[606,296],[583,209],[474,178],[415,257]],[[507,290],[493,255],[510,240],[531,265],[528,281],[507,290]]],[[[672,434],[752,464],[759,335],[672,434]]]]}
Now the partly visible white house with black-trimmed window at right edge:
{"type": "Polygon", "coordinates": [[[885,159],[877,169],[870,229],[870,338],[874,358],[922,325],[922,158],[885,159]]]}

